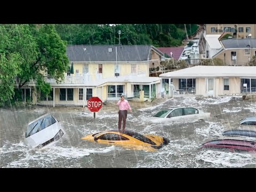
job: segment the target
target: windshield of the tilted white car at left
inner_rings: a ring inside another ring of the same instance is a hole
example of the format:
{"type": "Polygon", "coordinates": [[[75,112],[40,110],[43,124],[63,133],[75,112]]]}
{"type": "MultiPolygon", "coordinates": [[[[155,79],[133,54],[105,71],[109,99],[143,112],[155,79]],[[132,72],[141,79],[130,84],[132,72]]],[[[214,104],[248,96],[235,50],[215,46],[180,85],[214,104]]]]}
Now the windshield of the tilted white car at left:
{"type": "Polygon", "coordinates": [[[46,115],[45,117],[42,117],[38,119],[37,121],[29,124],[27,126],[26,132],[25,132],[25,137],[29,137],[39,131],[42,131],[46,127],[49,127],[50,125],[54,124],[56,121],[52,117],[52,115],[46,115]]]}

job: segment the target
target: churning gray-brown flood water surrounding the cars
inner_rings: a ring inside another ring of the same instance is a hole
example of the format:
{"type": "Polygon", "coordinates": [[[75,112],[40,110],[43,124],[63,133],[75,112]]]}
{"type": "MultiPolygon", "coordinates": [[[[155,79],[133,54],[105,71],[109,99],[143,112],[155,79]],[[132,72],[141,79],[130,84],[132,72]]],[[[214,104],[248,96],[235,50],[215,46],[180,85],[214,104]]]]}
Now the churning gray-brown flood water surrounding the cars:
{"type": "Polygon", "coordinates": [[[236,129],[239,126],[238,121],[246,116],[256,116],[256,102],[239,97],[173,98],[166,99],[157,106],[135,109],[128,113],[126,130],[170,139],[169,145],[152,152],[81,140],[86,134],[117,129],[118,110],[101,109],[94,121],[93,113],[82,107],[0,108],[0,167],[255,168],[255,151],[198,150],[198,146],[206,140],[218,138],[225,130],[236,129]],[[212,118],[206,122],[172,124],[145,121],[156,111],[172,106],[197,107],[211,112],[212,118]],[[59,119],[67,138],[51,148],[31,149],[23,141],[26,126],[47,112],[59,119]]]}

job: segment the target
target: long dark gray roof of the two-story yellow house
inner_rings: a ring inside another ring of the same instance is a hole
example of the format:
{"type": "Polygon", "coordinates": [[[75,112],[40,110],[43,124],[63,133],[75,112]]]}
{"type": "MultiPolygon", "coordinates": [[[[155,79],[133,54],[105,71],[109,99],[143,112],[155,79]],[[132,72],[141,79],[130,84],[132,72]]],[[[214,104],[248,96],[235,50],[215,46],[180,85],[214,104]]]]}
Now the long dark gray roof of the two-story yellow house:
{"type": "Polygon", "coordinates": [[[68,45],[69,61],[148,61],[151,49],[163,53],[151,45],[68,45]],[[109,52],[109,48],[112,49],[109,52]],[[116,54],[117,49],[117,54],[116,54]],[[117,56],[117,58],[116,58],[117,56]]]}

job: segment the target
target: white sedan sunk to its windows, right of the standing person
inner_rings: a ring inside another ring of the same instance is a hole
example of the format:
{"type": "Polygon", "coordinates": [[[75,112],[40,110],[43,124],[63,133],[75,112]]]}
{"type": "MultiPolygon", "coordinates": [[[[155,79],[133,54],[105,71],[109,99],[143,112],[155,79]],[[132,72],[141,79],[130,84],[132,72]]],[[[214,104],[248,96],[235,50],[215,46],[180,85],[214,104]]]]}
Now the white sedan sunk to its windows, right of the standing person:
{"type": "Polygon", "coordinates": [[[158,111],[149,118],[150,122],[194,122],[198,120],[207,121],[211,118],[211,113],[206,113],[195,107],[172,107],[158,111]]]}

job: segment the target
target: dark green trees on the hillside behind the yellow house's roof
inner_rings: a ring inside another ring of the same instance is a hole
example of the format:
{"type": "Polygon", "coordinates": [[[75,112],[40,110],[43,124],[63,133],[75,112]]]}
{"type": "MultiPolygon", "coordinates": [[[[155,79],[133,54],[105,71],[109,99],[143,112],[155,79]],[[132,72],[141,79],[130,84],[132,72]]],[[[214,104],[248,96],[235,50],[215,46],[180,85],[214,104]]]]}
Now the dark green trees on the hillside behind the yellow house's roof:
{"type": "MultiPolygon", "coordinates": [[[[186,37],[184,24],[58,24],[55,25],[61,39],[73,45],[123,45],[180,46],[186,37]]],[[[187,24],[189,35],[198,26],[187,24]],[[191,30],[190,30],[191,28],[191,30]]]]}

